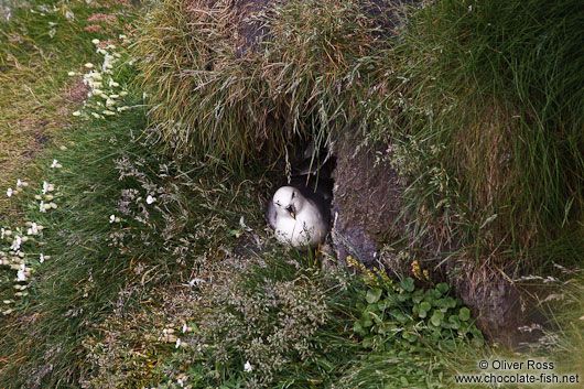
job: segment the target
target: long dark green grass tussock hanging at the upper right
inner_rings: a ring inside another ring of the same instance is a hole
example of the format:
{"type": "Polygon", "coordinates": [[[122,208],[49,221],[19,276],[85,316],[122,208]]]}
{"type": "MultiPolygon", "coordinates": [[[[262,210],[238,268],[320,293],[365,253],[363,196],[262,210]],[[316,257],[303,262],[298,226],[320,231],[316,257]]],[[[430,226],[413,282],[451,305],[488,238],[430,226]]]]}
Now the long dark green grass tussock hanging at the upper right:
{"type": "Polygon", "coordinates": [[[391,158],[414,161],[410,207],[482,261],[542,263],[558,258],[551,246],[573,261],[584,249],[573,239],[584,182],[577,7],[440,2],[413,13],[393,50],[407,88],[391,158]]]}

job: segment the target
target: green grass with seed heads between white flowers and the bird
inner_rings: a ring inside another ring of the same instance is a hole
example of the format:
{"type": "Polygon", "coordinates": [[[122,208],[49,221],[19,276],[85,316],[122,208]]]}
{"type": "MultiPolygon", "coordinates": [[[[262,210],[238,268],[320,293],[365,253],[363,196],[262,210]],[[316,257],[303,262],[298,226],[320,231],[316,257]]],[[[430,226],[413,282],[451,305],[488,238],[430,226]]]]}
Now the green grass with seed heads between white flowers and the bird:
{"type": "Polygon", "coordinates": [[[46,226],[42,250],[51,260],[34,266],[30,294],[15,299],[15,316],[6,323],[10,335],[1,342],[10,363],[2,386],[76,387],[93,368],[84,342],[100,333],[104,320],[127,314],[154,285],[187,282],[183,272],[213,271],[218,242],[237,227],[250,184],[153,153],[148,141],[132,138],[144,118],[136,109],[95,120],[71,134],[66,151],[52,153],[63,169],[44,176],[56,186],[58,208],[39,214],[33,202],[28,213],[46,226]],[[217,214],[225,204],[229,210],[217,214]],[[110,215],[120,221],[110,223],[110,215]]]}

